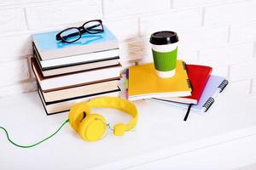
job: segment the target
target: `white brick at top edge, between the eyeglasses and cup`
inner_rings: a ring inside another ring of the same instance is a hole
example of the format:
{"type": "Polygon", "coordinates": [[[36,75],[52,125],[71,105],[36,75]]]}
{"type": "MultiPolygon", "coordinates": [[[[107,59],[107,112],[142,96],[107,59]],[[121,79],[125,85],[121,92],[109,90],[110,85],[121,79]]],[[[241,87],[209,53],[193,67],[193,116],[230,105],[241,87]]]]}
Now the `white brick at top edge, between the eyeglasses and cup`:
{"type": "Polygon", "coordinates": [[[103,17],[117,18],[123,16],[162,11],[171,8],[170,0],[103,0],[103,17]]]}

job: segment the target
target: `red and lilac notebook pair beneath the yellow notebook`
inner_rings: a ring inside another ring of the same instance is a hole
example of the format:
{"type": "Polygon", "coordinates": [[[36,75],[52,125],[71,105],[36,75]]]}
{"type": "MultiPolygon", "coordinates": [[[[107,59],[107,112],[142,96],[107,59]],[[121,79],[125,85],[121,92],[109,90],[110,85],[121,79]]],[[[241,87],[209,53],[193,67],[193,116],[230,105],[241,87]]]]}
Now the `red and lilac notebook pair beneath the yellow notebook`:
{"type": "Polygon", "coordinates": [[[217,95],[228,85],[229,81],[224,77],[211,75],[212,67],[206,65],[187,65],[189,80],[193,87],[190,96],[179,98],[154,98],[156,101],[169,105],[187,108],[198,113],[207,112],[217,95]]]}

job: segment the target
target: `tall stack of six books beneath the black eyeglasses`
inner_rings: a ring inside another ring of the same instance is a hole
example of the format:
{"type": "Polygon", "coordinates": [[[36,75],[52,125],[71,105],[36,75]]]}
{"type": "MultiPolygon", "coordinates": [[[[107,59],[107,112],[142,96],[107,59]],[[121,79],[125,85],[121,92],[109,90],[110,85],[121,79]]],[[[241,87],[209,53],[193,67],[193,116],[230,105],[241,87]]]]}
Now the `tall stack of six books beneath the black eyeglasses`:
{"type": "Polygon", "coordinates": [[[33,35],[32,71],[47,115],[100,96],[119,96],[119,43],[104,26],[73,43],[58,42],[58,31],[33,35]]]}

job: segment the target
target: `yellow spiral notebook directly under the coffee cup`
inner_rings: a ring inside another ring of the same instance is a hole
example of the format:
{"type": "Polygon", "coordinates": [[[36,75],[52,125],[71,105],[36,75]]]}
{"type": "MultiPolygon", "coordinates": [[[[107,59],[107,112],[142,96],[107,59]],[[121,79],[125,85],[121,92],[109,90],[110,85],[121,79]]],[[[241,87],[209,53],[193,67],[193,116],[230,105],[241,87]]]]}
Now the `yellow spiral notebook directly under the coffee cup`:
{"type": "Polygon", "coordinates": [[[182,60],[177,60],[176,74],[171,78],[158,77],[153,63],[132,66],[128,83],[130,100],[191,95],[186,66],[182,60]]]}

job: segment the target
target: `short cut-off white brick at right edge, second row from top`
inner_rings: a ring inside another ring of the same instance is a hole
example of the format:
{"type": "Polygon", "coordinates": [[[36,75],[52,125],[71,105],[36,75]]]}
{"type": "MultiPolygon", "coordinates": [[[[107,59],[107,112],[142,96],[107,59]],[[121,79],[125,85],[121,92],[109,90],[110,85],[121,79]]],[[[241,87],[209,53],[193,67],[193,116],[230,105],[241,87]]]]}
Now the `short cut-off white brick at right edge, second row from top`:
{"type": "Polygon", "coordinates": [[[233,25],[230,29],[230,42],[245,42],[256,40],[255,30],[256,21],[233,25]]]}

